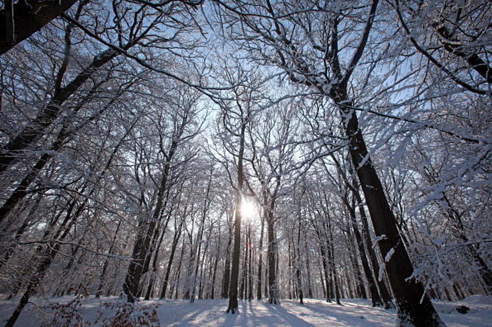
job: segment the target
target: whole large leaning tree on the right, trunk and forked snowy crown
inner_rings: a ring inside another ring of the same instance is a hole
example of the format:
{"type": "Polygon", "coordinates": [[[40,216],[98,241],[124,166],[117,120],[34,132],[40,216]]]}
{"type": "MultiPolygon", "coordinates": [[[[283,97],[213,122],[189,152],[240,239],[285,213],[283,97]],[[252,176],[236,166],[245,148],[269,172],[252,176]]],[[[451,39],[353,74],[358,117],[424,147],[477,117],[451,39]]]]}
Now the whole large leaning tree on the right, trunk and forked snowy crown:
{"type": "Polygon", "coordinates": [[[270,1],[254,6],[234,1],[219,4],[228,11],[230,24],[237,23],[238,28],[229,34],[231,39],[240,42],[259,61],[284,69],[291,81],[324,94],[338,108],[351,160],[357,167],[376,234],[381,237],[379,246],[387,259],[386,271],[400,324],[442,324],[423,285],[407,279],[413,274],[412,262],[359,127],[353,109],[356,99],[349,93],[349,88],[355,86],[350,84],[352,75],[378,17],[379,1],[362,1],[357,7],[343,2],[319,6],[310,1],[294,5],[270,1]],[[363,17],[363,22],[351,17],[363,17]],[[353,47],[349,40],[355,34],[358,42],[353,47]]]}

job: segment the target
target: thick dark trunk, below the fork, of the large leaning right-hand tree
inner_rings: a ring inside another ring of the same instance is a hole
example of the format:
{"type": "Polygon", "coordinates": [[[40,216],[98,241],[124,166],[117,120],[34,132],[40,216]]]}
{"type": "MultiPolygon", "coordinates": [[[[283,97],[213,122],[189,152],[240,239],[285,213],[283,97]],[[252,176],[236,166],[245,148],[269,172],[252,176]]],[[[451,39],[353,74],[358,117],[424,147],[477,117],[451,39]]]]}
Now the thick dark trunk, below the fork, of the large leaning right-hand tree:
{"type": "Polygon", "coordinates": [[[344,117],[343,125],[349,141],[352,163],[356,167],[376,236],[381,238],[379,246],[385,257],[386,271],[395,295],[399,325],[443,325],[430,299],[425,295],[422,283],[415,279],[407,280],[413,273],[412,262],[398,232],[383,185],[367,152],[357,116],[353,110],[347,109],[352,103],[346,101],[346,91],[335,92],[332,98],[339,104],[344,117]],[[345,107],[345,104],[348,107],[345,107]]]}

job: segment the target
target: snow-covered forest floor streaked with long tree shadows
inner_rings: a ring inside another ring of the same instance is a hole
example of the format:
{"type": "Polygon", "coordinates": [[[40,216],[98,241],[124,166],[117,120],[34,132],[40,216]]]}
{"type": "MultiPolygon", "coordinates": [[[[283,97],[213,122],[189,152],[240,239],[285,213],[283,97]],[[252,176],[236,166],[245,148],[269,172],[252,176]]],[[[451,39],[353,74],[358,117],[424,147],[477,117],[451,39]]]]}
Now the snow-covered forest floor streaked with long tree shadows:
{"type": "MultiPolygon", "coordinates": [[[[18,300],[18,298],[17,298],[18,300]]],[[[239,314],[225,314],[227,300],[150,300],[133,306],[116,297],[75,296],[34,298],[16,326],[114,326],[118,317],[136,321],[135,325],[154,320],[153,326],[394,326],[396,310],[371,307],[370,300],[346,299],[342,305],[319,299],[282,300],[280,305],[258,300],[239,300],[239,314]],[[117,314],[119,312],[119,315],[117,314]],[[132,313],[130,313],[132,312],[132,313]],[[56,313],[56,314],[55,314],[56,313]],[[116,318],[115,318],[116,316],[116,318]],[[159,319],[159,322],[156,321],[159,319]],[[69,321],[69,322],[68,322],[69,321]],[[140,321],[140,322],[138,322],[140,321]],[[68,323],[67,323],[68,322],[68,323]]],[[[0,299],[0,324],[10,316],[16,299],[0,299]]],[[[434,302],[448,327],[489,327],[492,321],[492,296],[473,295],[460,302],[434,302]],[[458,305],[470,308],[468,313],[456,311],[458,305]]],[[[121,320],[119,320],[121,321],[121,320]]],[[[127,324],[121,324],[127,325],[127,324]]],[[[149,323],[149,325],[151,325],[149,323]]]]}

